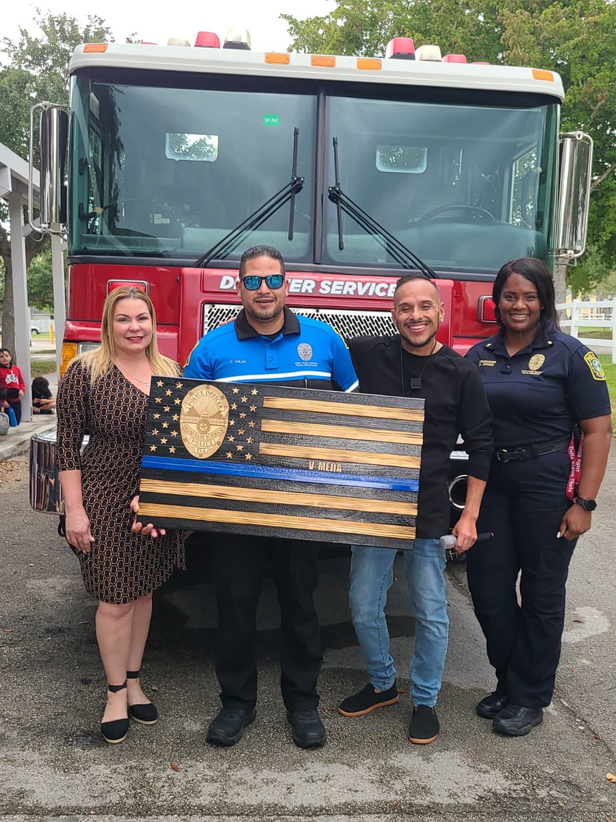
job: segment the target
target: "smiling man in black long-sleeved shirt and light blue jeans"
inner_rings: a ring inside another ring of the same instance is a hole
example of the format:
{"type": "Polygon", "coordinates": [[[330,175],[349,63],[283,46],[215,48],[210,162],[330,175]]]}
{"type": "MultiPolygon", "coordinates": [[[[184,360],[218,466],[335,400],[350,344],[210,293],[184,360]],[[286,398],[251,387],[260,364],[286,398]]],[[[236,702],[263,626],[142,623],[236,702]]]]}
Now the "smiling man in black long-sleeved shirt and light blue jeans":
{"type": "MultiPolygon", "coordinates": [[[[490,468],[491,415],[477,369],[436,339],[444,303],[432,281],[421,274],[402,277],[393,295],[392,316],[397,335],[359,337],[349,346],[362,393],[425,399],[416,539],[413,549],[404,552],[404,564],[416,620],[408,739],[426,744],[439,734],[434,705],[447,653],[445,552],[439,537],[448,532],[449,455],[462,435],[469,455],[467,500],[453,533],[457,552],[465,552],[476,540],[490,468]]],[[[353,626],[370,682],[342,701],[338,711],[343,716],[370,713],[399,700],[384,615],[395,556],[388,548],[352,548],[353,626]]]]}

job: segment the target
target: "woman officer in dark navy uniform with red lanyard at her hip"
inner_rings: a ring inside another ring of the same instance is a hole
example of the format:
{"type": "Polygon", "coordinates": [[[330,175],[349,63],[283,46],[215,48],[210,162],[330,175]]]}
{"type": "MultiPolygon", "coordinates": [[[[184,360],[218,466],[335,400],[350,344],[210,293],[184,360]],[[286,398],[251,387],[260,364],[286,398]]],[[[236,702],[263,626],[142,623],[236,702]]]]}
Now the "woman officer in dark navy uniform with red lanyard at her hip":
{"type": "Polygon", "coordinates": [[[612,429],[603,369],[559,330],[544,263],[506,263],[494,280],[494,303],[498,334],[467,353],[494,418],[494,459],[477,522],[494,538],[468,553],[467,572],[498,681],[476,710],[495,731],[518,737],[543,721],[552,699],[569,561],[591,527],[612,429]],[[584,435],[577,473],[576,426],[584,435]]]}

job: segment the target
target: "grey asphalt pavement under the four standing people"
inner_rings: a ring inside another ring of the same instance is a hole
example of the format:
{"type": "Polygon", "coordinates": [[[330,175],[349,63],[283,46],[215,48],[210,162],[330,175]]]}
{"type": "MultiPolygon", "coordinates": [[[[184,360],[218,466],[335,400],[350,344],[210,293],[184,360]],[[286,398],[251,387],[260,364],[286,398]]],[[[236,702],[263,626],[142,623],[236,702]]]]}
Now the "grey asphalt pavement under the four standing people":
{"type": "MultiPolygon", "coordinates": [[[[159,706],[121,745],[99,735],[104,677],[95,603],[56,520],[30,510],[25,455],[0,463],[0,820],[616,822],[614,510],[616,447],[593,529],[572,561],[554,702],[528,737],[476,716],[494,686],[463,563],[448,568],[451,635],[430,746],[407,741],[413,621],[402,566],[388,602],[400,704],[360,718],[336,705],[365,684],[347,610],[348,555],[324,556],[317,592],[326,647],[320,710],[328,744],[292,742],[278,688],[278,607],[266,580],[258,617],[255,723],[231,749],[205,744],[218,711],[216,613],[207,548],[189,550],[155,594],[142,681],[159,706]],[[401,577],[402,575],[402,577],[401,577]]],[[[522,515],[522,512],[521,512],[522,515]]]]}

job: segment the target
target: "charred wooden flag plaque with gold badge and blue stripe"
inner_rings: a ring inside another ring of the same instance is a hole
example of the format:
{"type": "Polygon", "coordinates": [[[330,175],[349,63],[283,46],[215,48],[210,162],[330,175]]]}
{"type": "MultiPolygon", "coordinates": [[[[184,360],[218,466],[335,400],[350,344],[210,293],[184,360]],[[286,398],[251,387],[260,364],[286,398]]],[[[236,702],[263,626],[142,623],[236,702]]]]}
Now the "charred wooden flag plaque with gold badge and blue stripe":
{"type": "Polygon", "coordinates": [[[154,376],[140,521],[412,547],[423,399],[154,376]]]}

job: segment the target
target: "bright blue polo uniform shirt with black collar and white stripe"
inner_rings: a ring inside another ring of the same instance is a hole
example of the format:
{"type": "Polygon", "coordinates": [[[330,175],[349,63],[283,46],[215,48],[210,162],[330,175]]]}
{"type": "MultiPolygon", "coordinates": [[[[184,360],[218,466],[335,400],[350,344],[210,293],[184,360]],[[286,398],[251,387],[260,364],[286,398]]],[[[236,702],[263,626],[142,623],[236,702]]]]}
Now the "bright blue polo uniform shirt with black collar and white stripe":
{"type": "Polygon", "coordinates": [[[261,335],[243,310],[235,322],[209,331],[192,350],[184,376],[323,390],[354,391],[358,385],[340,335],[327,323],[287,307],[284,326],[276,335],[261,335]]]}

